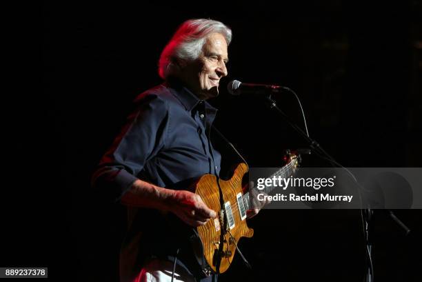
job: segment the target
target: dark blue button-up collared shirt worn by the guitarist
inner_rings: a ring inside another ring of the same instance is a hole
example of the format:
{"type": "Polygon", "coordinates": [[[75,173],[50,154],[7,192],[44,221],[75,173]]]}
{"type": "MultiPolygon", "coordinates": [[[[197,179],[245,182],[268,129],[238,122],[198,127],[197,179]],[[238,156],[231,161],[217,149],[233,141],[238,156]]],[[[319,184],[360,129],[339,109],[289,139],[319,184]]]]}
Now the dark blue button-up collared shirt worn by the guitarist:
{"type": "MultiPolygon", "coordinates": [[[[136,179],[189,190],[193,179],[219,174],[221,155],[210,143],[217,110],[180,83],[164,83],[135,100],[137,110],[94,173],[94,186],[120,199],[136,179]]],[[[173,219],[172,219],[173,220],[173,219]]],[[[132,279],[143,259],[172,256],[187,241],[159,210],[128,207],[128,234],[121,250],[121,278],[132,279]],[[180,235],[180,236],[179,236],[180,235]]],[[[183,249],[183,248],[182,248],[183,249]]]]}

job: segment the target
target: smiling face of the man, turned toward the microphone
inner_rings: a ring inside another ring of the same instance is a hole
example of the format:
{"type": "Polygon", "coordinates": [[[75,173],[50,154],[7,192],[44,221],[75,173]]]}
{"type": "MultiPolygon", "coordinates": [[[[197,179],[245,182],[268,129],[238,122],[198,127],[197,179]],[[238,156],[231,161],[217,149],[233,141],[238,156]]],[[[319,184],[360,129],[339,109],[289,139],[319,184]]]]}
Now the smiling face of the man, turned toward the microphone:
{"type": "Polygon", "coordinates": [[[212,33],[205,39],[199,58],[185,66],[183,80],[199,99],[217,97],[221,77],[227,75],[227,42],[220,33],[212,33]]]}

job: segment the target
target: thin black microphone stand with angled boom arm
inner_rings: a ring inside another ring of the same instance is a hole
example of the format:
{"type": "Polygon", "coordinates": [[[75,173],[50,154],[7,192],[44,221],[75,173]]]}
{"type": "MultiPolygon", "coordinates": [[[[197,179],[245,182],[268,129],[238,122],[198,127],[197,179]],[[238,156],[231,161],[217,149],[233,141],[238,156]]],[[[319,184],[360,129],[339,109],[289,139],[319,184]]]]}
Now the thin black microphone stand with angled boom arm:
{"type": "MultiPolygon", "coordinates": [[[[290,88],[284,88],[285,90],[288,90],[289,92],[293,92],[292,90],[290,90],[290,88]]],[[[279,90],[277,90],[279,91],[279,90]]],[[[268,94],[265,95],[265,99],[267,101],[267,105],[269,106],[270,109],[272,110],[276,110],[277,112],[279,112],[279,114],[281,114],[281,117],[283,117],[283,119],[285,119],[285,121],[287,121],[287,123],[294,129],[296,130],[299,135],[301,135],[301,137],[303,137],[306,141],[308,141],[311,150],[313,150],[314,152],[316,152],[317,155],[319,155],[319,157],[322,157],[323,159],[330,161],[330,163],[334,166],[334,165],[338,165],[341,168],[345,167],[343,165],[341,165],[340,163],[338,163],[332,156],[330,156],[330,154],[328,154],[328,152],[326,152],[325,150],[323,150],[323,148],[321,147],[321,145],[319,145],[318,142],[316,142],[314,139],[310,138],[308,136],[308,134],[306,134],[296,123],[293,123],[290,118],[287,116],[287,114],[285,114],[278,106],[277,106],[277,102],[271,98],[271,94],[272,94],[272,89],[269,89],[268,94]]],[[[347,170],[347,169],[346,169],[347,170]]],[[[352,174],[351,174],[352,175],[352,174]]],[[[354,181],[357,183],[356,179],[353,177],[354,181]]],[[[359,183],[358,183],[359,184],[359,183]]],[[[401,228],[403,228],[406,231],[406,234],[408,234],[410,232],[410,229],[402,222],[400,221],[400,219],[397,218],[397,216],[394,215],[394,213],[391,210],[388,210],[390,217],[401,226],[401,228]]],[[[373,264],[372,264],[372,243],[370,242],[370,221],[372,219],[372,214],[374,213],[374,211],[370,208],[365,208],[363,210],[361,210],[361,216],[363,219],[363,229],[364,229],[364,239],[365,239],[365,248],[366,248],[366,263],[368,265],[368,272],[365,275],[365,282],[373,282],[374,281],[374,268],[373,268],[373,264]]]]}

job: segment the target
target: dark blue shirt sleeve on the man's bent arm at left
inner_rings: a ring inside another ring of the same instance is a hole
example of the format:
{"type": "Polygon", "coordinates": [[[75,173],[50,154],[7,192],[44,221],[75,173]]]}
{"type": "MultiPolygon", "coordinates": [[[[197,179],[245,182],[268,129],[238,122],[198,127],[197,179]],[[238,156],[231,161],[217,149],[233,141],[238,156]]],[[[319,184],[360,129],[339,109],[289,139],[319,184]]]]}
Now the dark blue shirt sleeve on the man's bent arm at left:
{"type": "Polygon", "coordinates": [[[130,114],[92,175],[93,188],[106,199],[119,201],[138,179],[145,163],[165,144],[167,103],[157,94],[141,94],[135,103],[137,110],[130,114]]]}

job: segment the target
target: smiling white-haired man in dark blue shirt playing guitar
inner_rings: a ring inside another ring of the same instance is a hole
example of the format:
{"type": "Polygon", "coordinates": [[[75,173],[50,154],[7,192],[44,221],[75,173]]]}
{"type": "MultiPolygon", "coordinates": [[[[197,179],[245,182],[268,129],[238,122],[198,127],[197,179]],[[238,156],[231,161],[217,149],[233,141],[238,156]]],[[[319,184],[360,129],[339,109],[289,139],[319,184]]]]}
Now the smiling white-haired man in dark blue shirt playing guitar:
{"type": "Polygon", "coordinates": [[[137,97],[137,110],[94,173],[94,187],[128,207],[122,282],[215,279],[201,275],[188,238],[163,214],[193,227],[217,216],[188,183],[220,172],[221,155],[210,142],[217,110],[206,100],[217,97],[228,74],[231,39],[219,21],[185,21],[159,59],[165,82],[137,97]]]}

